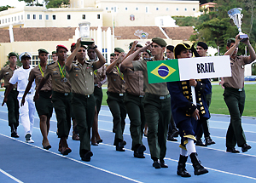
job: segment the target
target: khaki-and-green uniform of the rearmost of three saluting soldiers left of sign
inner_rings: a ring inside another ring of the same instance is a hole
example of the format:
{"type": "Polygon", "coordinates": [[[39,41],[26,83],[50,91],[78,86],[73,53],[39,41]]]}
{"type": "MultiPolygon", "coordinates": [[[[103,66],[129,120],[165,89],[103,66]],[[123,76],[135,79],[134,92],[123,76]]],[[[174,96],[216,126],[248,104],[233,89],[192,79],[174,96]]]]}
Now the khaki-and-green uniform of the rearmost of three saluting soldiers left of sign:
{"type": "Polygon", "coordinates": [[[126,109],[124,103],[125,82],[119,67],[115,66],[113,70],[107,74],[108,77],[108,107],[113,116],[113,132],[114,146],[119,146],[119,142],[123,141],[123,133],[125,130],[126,109]]]}

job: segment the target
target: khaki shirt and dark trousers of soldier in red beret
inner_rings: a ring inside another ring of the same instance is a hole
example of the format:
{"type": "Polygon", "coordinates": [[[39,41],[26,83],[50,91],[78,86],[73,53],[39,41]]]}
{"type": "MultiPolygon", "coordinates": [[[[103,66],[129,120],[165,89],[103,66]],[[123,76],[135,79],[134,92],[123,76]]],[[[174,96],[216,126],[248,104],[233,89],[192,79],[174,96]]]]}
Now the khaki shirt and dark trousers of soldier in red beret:
{"type": "Polygon", "coordinates": [[[71,128],[71,83],[65,66],[61,68],[58,63],[56,61],[46,67],[44,78],[52,78],[52,102],[57,118],[58,137],[67,138],[71,128]],[[61,72],[64,77],[61,77],[61,72]]]}

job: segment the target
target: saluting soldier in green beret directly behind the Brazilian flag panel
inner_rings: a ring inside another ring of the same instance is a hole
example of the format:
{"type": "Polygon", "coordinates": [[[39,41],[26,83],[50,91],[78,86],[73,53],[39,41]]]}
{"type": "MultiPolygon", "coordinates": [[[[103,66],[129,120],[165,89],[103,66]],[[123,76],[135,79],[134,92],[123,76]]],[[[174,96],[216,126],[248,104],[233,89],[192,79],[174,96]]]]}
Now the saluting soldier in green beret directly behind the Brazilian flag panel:
{"type": "Polygon", "coordinates": [[[164,158],[166,157],[166,136],[168,123],[171,119],[170,94],[166,83],[148,83],[147,61],[165,60],[166,41],[160,37],[154,37],[151,43],[137,49],[122,63],[123,66],[134,71],[143,71],[143,82],[145,90],[144,112],[146,123],[148,123],[148,146],[151,159],[154,161],[155,169],[168,168],[164,158]],[[153,60],[133,61],[138,53],[150,48],[153,60]]]}

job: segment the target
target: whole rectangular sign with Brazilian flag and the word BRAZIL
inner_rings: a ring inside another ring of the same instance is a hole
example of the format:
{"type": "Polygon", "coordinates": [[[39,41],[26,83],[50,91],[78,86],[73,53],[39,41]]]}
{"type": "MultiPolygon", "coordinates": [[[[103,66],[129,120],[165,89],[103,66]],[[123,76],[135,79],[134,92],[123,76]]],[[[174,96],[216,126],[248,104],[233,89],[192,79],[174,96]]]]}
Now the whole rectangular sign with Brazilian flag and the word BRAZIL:
{"type": "Polygon", "coordinates": [[[148,61],[148,83],[231,77],[230,56],[148,61]]]}

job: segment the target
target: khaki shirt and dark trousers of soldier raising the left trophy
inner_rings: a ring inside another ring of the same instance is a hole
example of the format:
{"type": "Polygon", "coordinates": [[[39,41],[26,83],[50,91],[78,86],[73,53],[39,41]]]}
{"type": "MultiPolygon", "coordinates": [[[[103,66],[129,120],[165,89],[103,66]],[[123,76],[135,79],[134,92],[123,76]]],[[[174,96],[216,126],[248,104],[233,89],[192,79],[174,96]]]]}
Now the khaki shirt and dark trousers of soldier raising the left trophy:
{"type": "Polygon", "coordinates": [[[80,157],[90,152],[90,127],[93,123],[95,112],[94,91],[94,65],[95,63],[79,62],[72,64],[69,71],[72,83],[72,108],[77,121],[80,138],[80,157]]]}

